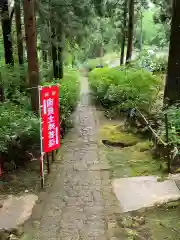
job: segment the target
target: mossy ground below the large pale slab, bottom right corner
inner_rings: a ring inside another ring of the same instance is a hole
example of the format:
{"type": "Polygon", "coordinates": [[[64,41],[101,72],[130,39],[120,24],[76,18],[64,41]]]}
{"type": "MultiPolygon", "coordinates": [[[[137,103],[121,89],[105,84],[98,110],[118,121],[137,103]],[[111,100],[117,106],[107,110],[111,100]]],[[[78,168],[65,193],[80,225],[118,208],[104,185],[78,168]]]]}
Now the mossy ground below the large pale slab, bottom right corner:
{"type": "Polygon", "coordinates": [[[117,217],[119,233],[125,232],[122,240],[129,236],[137,240],[180,239],[180,201],[152,207],[145,211],[134,211],[117,217]]]}

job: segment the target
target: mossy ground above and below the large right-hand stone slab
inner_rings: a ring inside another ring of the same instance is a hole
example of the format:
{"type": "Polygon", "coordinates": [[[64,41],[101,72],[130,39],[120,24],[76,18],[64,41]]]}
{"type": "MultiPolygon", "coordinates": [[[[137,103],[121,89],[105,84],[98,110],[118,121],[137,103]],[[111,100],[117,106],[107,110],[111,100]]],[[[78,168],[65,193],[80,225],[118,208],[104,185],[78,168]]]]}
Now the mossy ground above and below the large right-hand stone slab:
{"type": "MultiPolygon", "coordinates": [[[[99,140],[100,154],[103,156],[101,159],[108,161],[112,178],[157,175],[162,180],[166,179],[166,164],[153,157],[149,140],[126,132],[123,125],[113,125],[112,121],[109,123],[100,129],[99,140]],[[102,140],[111,144],[104,145],[102,140]],[[129,146],[119,147],[119,142],[128,143],[129,146]],[[112,143],[117,145],[113,146],[112,143]]],[[[117,239],[180,239],[179,201],[116,215],[117,239]]]]}

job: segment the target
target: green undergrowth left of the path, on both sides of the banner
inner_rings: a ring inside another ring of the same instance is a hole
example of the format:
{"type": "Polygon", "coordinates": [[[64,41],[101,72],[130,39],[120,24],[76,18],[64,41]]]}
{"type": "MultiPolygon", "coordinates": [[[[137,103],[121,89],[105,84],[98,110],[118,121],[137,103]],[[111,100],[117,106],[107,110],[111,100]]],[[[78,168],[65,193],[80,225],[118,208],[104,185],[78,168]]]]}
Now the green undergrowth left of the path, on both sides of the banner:
{"type": "MultiPolygon", "coordinates": [[[[39,117],[31,111],[30,90],[26,67],[1,67],[1,88],[4,102],[0,103],[1,161],[22,165],[29,157],[38,156],[40,147],[39,117]]],[[[65,69],[63,80],[52,80],[51,70],[43,69],[43,85],[60,83],[60,116],[65,127],[75,109],[79,95],[79,76],[74,69],[65,69]]]]}

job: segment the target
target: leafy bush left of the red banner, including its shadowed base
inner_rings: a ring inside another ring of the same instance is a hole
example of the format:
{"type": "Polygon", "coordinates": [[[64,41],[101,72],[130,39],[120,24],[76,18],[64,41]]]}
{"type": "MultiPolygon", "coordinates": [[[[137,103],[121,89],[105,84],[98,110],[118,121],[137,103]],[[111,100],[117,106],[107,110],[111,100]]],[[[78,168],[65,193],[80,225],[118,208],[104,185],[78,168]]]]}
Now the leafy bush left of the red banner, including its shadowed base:
{"type": "Polygon", "coordinates": [[[31,111],[10,102],[0,104],[0,152],[16,164],[28,150],[40,146],[39,119],[31,111]]]}

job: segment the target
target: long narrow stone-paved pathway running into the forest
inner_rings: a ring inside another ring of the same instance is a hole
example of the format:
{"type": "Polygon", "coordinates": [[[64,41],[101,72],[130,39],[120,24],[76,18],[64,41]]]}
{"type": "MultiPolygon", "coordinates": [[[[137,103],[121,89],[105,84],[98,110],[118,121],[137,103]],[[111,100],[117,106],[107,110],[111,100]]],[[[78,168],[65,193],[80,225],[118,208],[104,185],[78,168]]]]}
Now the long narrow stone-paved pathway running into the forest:
{"type": "Polygon", "coordinates": [[[97,127],[95,109],[89,100],[88,81],[84,78],[80,103],[75,113],[75,128],[63,141],[58,173],[45,197],[46,202],[39,204],[42,216],[38,219],[40,214],[36,213],[38,217],[33,218],[34,234],[28,239],[110,239],[96,139],[97,127]]]}

